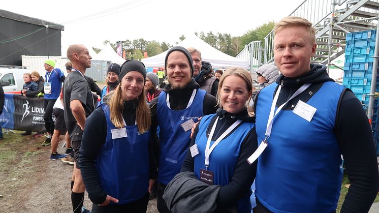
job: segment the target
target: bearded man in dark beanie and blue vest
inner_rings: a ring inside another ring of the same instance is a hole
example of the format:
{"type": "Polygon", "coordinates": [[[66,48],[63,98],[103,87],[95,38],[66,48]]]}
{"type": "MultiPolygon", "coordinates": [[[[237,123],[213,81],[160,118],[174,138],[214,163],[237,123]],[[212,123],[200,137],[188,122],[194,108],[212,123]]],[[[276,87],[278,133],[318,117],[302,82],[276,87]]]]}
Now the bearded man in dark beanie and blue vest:
{"type": "Polygon", "coordinates": [[[165,58],[165,72],[169,84],[151,103],[151,133],[160,127],[159,142],[152,136],[159,149],[157,208],[170,212],[162,199],[170,180],[180,172],[181,164],[190,145],[193,124],[203,115],[216,112],[216,99],[199,89],[192,76],[194,67],[191,54],[183,47],[171,48],[165,58]],[[158,145],[159,144],[159,145],[158,145]]]}

